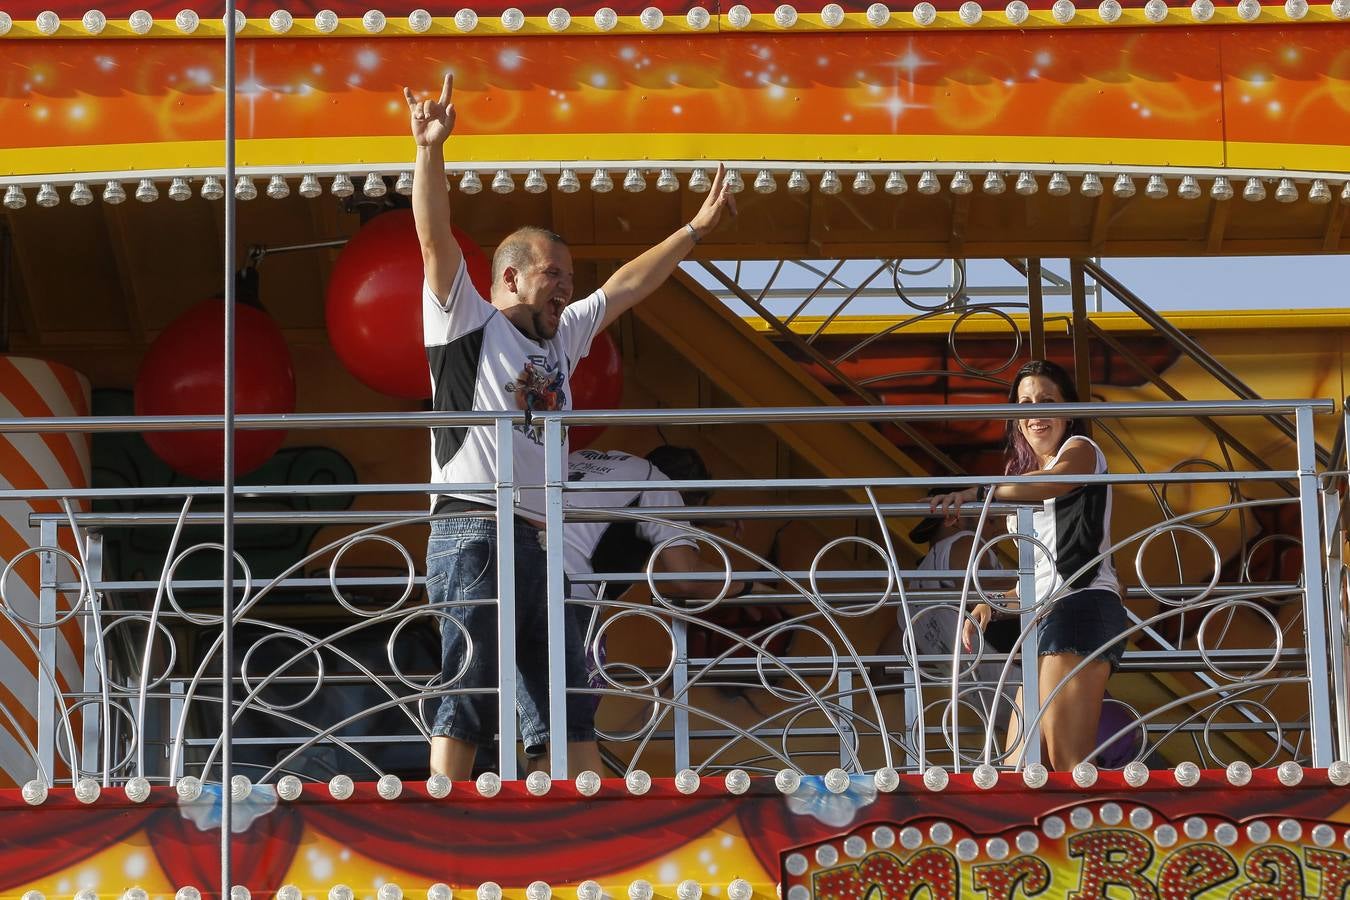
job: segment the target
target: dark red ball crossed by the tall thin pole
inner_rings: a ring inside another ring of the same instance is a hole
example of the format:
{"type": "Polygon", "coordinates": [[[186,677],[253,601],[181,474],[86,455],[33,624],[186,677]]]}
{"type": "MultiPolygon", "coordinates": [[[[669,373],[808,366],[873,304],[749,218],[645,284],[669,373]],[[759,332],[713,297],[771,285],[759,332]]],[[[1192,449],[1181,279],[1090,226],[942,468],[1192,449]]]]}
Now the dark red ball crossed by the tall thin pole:
{"type": "MultiPolygon", "coordinates": [[[[220,416],[225,395],[224,301],[204,300],[163,329],[136,372],[136,416],[220,416]]],[[[296,412],[296,371],[271,316],[235,306],[235,412],[296,412]]],[[[146,432],[146,443],[174,471],[219,482],[224,436],[209,432],[146,432]]],[[[235,471],[244,475],[277,452],[286,432],[235,432],[235,471]]]]}

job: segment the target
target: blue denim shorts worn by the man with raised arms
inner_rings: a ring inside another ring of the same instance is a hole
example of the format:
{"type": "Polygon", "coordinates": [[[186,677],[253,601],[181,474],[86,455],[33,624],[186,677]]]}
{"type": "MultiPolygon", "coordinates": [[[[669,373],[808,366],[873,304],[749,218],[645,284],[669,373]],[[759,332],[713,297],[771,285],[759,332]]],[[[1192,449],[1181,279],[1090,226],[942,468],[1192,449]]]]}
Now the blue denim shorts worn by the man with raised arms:
{"type": "MultiPolygon", "coordinates": [[[[539,537],[537,528],[516,519],[516,714],[528,756],[543,754],[548,745],[548,579],[547,555],[539,537]]],[[[440,623],[441,661],[436,688],[446,694],[431,733],[487,746],[497,738],[498,707],[494,519],[432,522],[427,544],[427,596],[454,619],[440,623]]],[[[586,687],[587,673],[575,617],[564,615],[563,629],[567,739],[594,741],[594,707],[579,694],[586,687]]]]}

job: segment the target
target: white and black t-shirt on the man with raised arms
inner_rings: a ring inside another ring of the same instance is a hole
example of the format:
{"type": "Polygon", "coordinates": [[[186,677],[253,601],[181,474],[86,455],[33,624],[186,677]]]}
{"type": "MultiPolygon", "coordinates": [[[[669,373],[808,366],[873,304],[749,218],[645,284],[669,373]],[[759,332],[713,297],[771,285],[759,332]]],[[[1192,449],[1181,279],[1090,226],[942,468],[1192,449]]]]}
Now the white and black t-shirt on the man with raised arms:
{"type": "MultiPolygon", "coordinates": [[[[423,343],[431,368],[436,412],[552,412],[572,407],[570,378],[590,352],[605,320],[605,293],[597,290],[563,310],[558,333],[537,341],[524,335],[474,287],[460,260],[450,296],[441,301],[423,282],[423,343]]],[[[544,426],[514,426],[513,467],[517,484],[544,483],[544,426]]],[[[563,448],[566,455],[567,448],[563,448]]],[[[431,434],[431,480],[493,482],[497,437],[491,425],[437,426],[431,434]]],[[[485,502],[483,497],[452,494],[485,502]]],[[[544,519],[541,487],[518,491],[517,513],[544,519]]],[[[432,497],[432,507],[436,506],[432,497]]]]}

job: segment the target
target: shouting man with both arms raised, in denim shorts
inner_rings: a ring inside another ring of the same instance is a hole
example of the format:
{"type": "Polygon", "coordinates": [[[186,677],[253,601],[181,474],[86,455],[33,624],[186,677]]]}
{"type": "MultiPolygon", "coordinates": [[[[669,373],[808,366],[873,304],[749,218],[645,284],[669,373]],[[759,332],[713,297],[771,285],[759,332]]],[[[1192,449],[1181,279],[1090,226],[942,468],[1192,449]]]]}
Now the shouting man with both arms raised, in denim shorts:
{"type": "MultiPolygon", "coordinates": [[[[568,378],[595,335],[656,290],[722,210],[736,212],[720,166],[702,208],[670,237],[616,271],[595,293],[572,302],[572,258],[563,239],[544,228],[508,235],[493,256],[489,302],[474,290],[450,228],[444,143],[455,130],[452,77],[439,100],[418,100],[404,88],[417,144],[413,217],[421,243],[423,333],[436,410],[556,410],[572,405],[568,378]]],[[[566,452],[566,449],[564,449],[566,452]]],[[[435,428],[431,480],[495,480],[497,441],[490,426],[435,428]]],[[[521,424],[513,433],[514,480],[544,483],[543,429],[521,424]]],[[[516,507],[517,710],[526,756],[541,757],[548,741],[545,553],[540,538],[543,491],[521,491],[516,507]]],[[[482,509],[483,497],[437,495],[435,513],[482,509]]],[[[440,518],[427,545],[427,592],[432,603],[454,603],[441,622],[441,699],[432,726],[431,769],[467,779],[479,746],[497,734],[497,699],[468,692],[495,685],[497,524],[493,518],[440,518]],[[458,622],[458,625],[456,625],[458,622]],[[468,641],[466,641],[466,634],[468,641]]],[[[502,598],[509,602],[510,598],[502,598]]],[[[586,680],[575,621],[567,625],[567,684],[586,680]]],[[[568,695],[567,738],[585,753],[594,746],[590,704],[568,695]]]]}

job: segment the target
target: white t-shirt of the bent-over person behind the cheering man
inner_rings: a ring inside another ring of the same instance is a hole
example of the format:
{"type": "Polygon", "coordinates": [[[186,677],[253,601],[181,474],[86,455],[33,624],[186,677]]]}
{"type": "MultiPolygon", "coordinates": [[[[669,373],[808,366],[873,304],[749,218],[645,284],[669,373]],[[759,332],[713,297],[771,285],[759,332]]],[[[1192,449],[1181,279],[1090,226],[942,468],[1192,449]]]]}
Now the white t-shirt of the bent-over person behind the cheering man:
{"type": "MultiPolygon", "coordinates": [[[[567,506],[570,509],[601,509],[630,506],[647,509],[656,506],[680,506],[683,499],[678,491],[662,487],[662,482],[668,482],[666,474],[645,459],[625,453],[622,451],[594,451],[579,449],[567,459],[567,480],[570,483],[586,482],[652,482],[652,487],[643,491],[568,491],[567,506]]],[[[563,528],[563,565],[568,575],[590,575],[595,571],[591,557],[599,546],[605,533],[612,528],[622,528],[630,522],[567,522],[563,528]]],[[[671,541],[667,546],[688,545],[695,546],[688,532],[675,524],[652,522],[640,519],[632,522],[637,537],[651,544],[653,548],[663,541],[671,541]]],[[[634,560],[633,565],[641,565],[645,560],[634,560]]],[[[626,583],[618,591],[610,590],[610,598],[621,594],[626,583]]],[[[583,599],[595,598],[594,584],[572,583],[572,596],[583,599]]]]}

